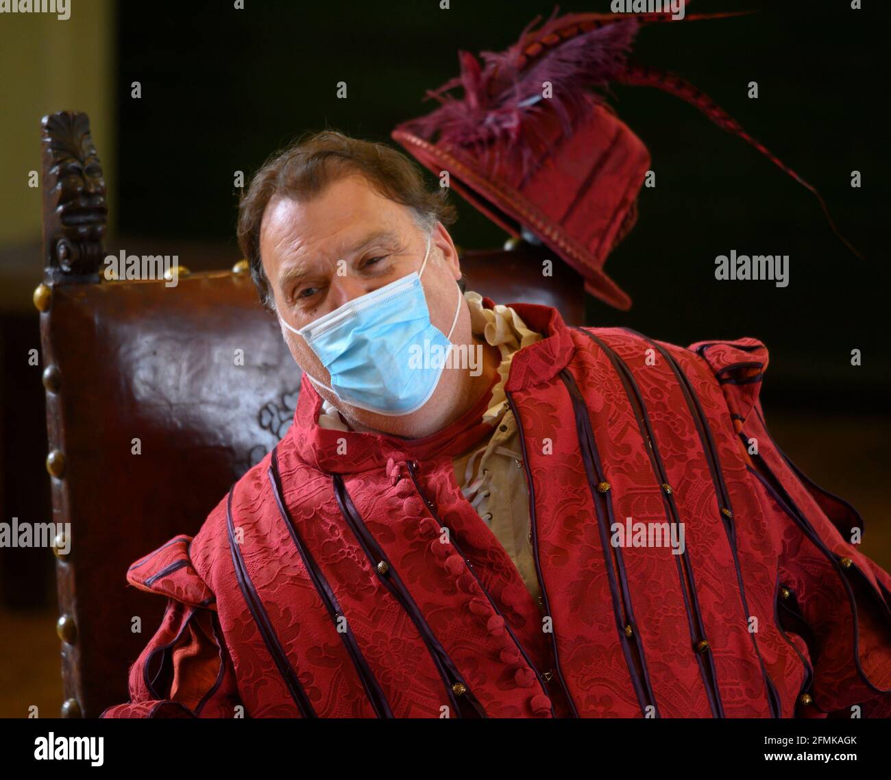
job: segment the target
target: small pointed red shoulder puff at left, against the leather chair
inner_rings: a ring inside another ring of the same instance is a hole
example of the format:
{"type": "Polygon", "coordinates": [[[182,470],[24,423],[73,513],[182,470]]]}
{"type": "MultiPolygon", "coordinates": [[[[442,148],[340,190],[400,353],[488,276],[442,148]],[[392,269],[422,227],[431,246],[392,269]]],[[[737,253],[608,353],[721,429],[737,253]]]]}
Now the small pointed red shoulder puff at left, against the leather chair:
{"type": "Polygon", "coordinates": [[[213,592],[200,578],[189,557],[192,537],[170,539],[127,570],[127,582],[140,590],[168,595],[182,603],[216,610],[213,592]]]}

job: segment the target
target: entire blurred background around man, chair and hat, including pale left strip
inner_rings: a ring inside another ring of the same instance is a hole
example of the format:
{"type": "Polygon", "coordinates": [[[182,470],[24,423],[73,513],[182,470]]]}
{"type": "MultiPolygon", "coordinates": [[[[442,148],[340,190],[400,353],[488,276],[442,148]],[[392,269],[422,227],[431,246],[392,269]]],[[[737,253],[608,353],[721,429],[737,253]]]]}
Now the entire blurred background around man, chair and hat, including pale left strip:
{"type": "MultiPolygon", "coordinates": [[[[670,95],[616,87],[610,103],[650,147],[657,187],[642,190],[638,224],[607,263],[634,308],[620,313],[592,299],[587,320],[684,345],[764,341],[771,364],[762,398],[774,438],[813,480],[860,509],[864,552],[891,568],[887,28],[880,4],[867,5],[699,0],[688,13],[754,13],[644,28],[633,53],[689,79],[815,185],[863,259],[832,233],[813,194],[748,144],[670,95]],[[853,170],[862,173],[860,189],[850,185],[853,170]],[[788,254],[789,286],[716,281],[715,257],[730,250],[788,254]],[[851,365],[852,349],[862,351],[862,365],[851,365]]],[[[432,110],[423,94],[457,75],[459,49],[503,50],[553,8],[538,0],[452,2],[448,10],[438,0],[246,6],[81,0],[68,22],[0,19],[3,521],[50,517],[42,368],[27,365],[39,346],[30,295],[42,268],[40,193],[23,184],[40,168],[44,113],[90,113],[109,184],[110,252],[126,246],[176,253],[192,270],[229,267],[241,257],[236,171],[249,180],[305,130],[389,142],[397,123],[432,110]],[[346,100],[336,97],[341,80],[346,100]]],[[[609,2],[560,4],[560,12],[583,11],[609,12],[609,2]]],[[[453,197],[456,243],[503,243],[500,228],[453,197]]],[[[38,680],[55,708],[54,598],[49,551],[0,550],[0,620],[17,637],[4,643],[0,663],[9,701],[27,686],[30,702],[38,680]]],[[[0,715],[19,706],[0,702],[0,715]]]]}

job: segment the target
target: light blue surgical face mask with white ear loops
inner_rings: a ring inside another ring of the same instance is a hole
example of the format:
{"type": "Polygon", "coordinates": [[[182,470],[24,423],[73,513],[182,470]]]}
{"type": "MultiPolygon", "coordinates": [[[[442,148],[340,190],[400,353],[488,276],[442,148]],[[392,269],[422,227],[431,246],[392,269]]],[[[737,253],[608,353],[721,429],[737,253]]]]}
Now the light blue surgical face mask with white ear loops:
{"type": "Polygon", "coordinates": [[[282,325],[307,341],[331,374],[331,390],[349,406],[378,415],[410,415],[426,404],[442,376],[452,349],[449,341],[461,313],[462,294],[447,335],[430,323],[421,275],[430,253],[430,238],[421,263],[380,289],[362,295],[302,328],[282,325]]]}

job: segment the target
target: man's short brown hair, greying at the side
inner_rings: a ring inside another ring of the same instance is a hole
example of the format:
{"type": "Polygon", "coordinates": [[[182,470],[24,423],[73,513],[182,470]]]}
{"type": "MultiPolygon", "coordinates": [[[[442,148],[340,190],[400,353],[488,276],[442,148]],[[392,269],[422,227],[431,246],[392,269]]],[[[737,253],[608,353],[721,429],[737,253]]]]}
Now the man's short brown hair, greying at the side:
{"type": "Polygon", "coordinates": [[[421,227],[432,230],[437,221],[447,227],[457,218],[456,209],[446,201],[447,189],[429,191],[420,168],[405,154],[336,130],[304,134],[266,160],[238,206],[238,243],[266,308],[274,308],[260,259],[260,226],[266,207],[277,197],[310,200],[332,182],[356,173],[385,198],[412,209],[421,227]]]}

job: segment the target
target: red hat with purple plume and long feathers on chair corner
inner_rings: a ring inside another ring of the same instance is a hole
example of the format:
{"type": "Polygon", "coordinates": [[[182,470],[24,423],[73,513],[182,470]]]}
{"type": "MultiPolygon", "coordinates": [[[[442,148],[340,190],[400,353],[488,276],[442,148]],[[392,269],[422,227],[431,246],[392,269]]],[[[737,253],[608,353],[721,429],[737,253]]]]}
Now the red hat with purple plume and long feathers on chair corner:
{"type": "Polygon", "coordinates": [[[650,167],[641,139],[602,101],[611,82],[655,86],[692,103],[820,198],[694,86],[627,62],[641,25],[672,21],[670,12],[556,12],[534,30],[536,17],[507,51],[480,53],[485,64],[460,52],[461,76],[428,92],[437,110],[402,123],[392,137],[437,176],[447,171],[449,185],[509,234],[527,231],[550,247],[584,277],[586,291],[631,307],[603,264],[634,226],[650,167]],[[461,98],[447,94],[457,86],[461,98]]]}

